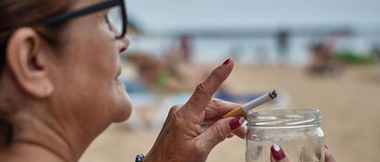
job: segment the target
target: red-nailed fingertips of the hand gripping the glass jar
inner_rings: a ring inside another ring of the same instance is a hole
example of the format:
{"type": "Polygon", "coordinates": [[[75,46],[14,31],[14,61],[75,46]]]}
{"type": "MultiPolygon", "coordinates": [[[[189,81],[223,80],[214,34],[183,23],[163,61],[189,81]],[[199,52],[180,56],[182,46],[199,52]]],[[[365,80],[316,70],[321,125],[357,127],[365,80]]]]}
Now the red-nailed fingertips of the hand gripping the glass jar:
{"type": "MultiPolygon", "coordinates": [[[[274,144],[271,147],[271,162],[291,162],[289,157],[286,156],[284,151],[279,145],[274,144]]],[[[336,162],[335,158],[332,156],[331,152],[327,149],[325,145],[325,162],[336,162]]]]}

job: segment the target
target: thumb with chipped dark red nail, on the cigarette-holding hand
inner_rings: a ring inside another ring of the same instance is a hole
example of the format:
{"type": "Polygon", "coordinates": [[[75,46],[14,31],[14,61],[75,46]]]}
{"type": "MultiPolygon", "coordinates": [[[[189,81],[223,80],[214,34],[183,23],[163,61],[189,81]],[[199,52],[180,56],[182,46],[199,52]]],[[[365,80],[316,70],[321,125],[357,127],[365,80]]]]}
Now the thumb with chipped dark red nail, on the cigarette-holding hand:
{"type": "Polygon", "coordinates": [[[197,137],[203,141],[205,148],[211,151],[218,143],[226,139],[236,128],[244,123],[244,117],[228,117],[222,118],[204,129],[204,131],[197,137]]]}

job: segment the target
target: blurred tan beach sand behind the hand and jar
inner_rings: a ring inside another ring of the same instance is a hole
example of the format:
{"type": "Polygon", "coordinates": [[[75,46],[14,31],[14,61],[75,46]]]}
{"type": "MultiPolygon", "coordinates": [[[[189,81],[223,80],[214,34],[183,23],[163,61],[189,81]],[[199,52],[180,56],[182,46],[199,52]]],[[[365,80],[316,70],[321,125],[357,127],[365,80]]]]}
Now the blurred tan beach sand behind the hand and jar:
{"type": "MultiPolygon", "coordinates": [[[[337,161],[378,161],[380,66],[345,67],[341,75],[310,76],[304,67],[236,65],[225,85],[234,93],[276,88],[289,97],[288,108],[319,109],[325,143],[337,161]]],[[[111,125],[80,161],[134,161],[137,154],[150,150],[158,132],[131,131],[125,123],[111,125]]],[[[244,140],[226,139],[211,152],[207,162],[243,162],[244,151],[244,140]]]]}

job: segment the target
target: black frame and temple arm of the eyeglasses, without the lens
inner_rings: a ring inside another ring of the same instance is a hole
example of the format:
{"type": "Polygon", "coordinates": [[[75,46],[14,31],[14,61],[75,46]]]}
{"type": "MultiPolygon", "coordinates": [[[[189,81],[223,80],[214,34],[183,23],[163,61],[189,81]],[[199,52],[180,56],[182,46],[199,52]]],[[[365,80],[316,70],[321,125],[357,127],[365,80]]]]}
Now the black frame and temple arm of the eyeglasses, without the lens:
{"type": "Polygon", "coordinates": [[[69,19],[73,19],[75,17],[79,16],[84,16],[87,14],[91,14],[93,12],[97,12],[103,9],[111,8],[114,6],[120,6],[121,7],[121,12],[122,12],[122,21],[123,21],[123,29],[122,33],[120,36],[116,36],[116,38],[122,38],[127,34],[127,24],[128,24],[128,15],[127,15],[127,9],[125,8],[125,2],[124,0],[108,0],[106,2],[98,3],[93,6],[89,6],[83,9],[79,9],[76,11],[64,13],[64,14],[59,14],[50,18],[47,18],[40,23],[39,25],[53,25],[55,23],[61,23],[64,21],[67,21],[69,19]]]}

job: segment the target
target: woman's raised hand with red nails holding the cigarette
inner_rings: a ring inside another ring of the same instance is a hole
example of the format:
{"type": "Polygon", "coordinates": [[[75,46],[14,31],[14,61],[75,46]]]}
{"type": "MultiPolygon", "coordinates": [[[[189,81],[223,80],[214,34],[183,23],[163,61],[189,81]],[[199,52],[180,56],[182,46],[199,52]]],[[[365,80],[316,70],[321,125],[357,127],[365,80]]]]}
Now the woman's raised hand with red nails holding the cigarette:
{"type": "Polygon", "coordinates": [[[222,118],[240,104],[212,98],[230,75],[233,60],[228,59],[200,83],[184,105],[173,106],[157,140],[144,162],[202,162],[212,148],[233,136],[244,139],[244,117],[222,118]],[[209,127],[202,131],[201,124],[209,127]]]}

